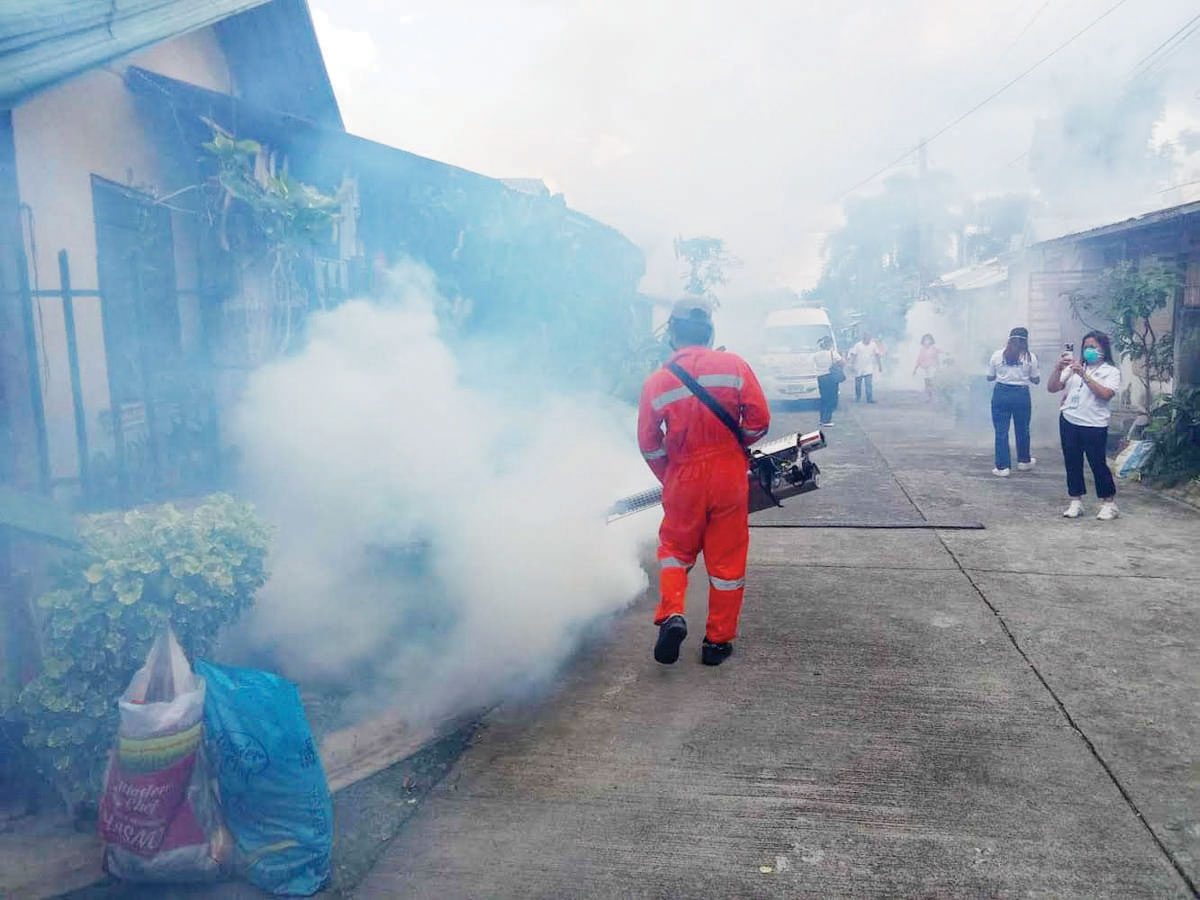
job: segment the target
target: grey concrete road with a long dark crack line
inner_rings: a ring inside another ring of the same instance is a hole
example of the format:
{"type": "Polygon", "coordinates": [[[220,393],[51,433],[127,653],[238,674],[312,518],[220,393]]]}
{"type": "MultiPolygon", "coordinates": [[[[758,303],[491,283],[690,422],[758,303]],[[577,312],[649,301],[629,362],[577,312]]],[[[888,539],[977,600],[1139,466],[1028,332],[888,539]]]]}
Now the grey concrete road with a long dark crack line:
{"type": "Polygon", "coordinates": [[[1122,518],[1063,520],[1049,428],[1001,480],[986,431],[880,394],[756,518],[820,527],[755,529],[728,662],[697,661],[698,570],[676,666],[644,598],[491,718],[360,894],[1194,895],[1200,515],[1122,485],[1122,518]]]}

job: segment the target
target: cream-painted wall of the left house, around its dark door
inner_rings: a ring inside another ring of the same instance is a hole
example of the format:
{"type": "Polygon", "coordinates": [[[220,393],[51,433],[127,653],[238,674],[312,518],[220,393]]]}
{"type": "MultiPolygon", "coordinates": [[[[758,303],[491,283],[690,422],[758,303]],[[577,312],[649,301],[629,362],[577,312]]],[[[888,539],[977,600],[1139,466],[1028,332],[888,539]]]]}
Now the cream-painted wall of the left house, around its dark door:
{"type": "MultiPolygon", "coordinates": [[[[212,90],[233,86],[224,54],[205,29],[82,74],[13,110],[18,191],[28,208],[24,239],[36,288],[59,289],[58,253],[66,250],[73,289],[98,289],[92,175],[156,196],[184,186],[172,182],[172,167],[160,158],[125,86],[131,65],[212,90]]],[[[186,214],[172,214],[185,350],[198,337],[193,227],[186,214]]],[[[50,475],[72,479],[78,460],[61,300],[41,298],[36,318],[50,475]]],[[[110,452],[112,438],[101,427],[109,395],[96,298],[76,300],[76,330],[89,445],[110,452]]]]}

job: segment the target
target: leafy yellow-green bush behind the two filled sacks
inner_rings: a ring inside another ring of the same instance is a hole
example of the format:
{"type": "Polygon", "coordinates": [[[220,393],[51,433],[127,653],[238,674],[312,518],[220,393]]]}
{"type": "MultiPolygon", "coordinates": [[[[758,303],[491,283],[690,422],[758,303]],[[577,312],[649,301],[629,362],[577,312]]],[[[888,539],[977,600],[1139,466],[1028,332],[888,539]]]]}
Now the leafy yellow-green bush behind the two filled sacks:
{"type": "Polygon", "coordinates": [[[208,653],[266,581],[266,527],[215,494],[86,516],[83,548],[38,600],[42,673],[20,692],[25,744],[68,804],[92,799],[116,733],[116,700],[170,624],[191,659],[208,653]]]}

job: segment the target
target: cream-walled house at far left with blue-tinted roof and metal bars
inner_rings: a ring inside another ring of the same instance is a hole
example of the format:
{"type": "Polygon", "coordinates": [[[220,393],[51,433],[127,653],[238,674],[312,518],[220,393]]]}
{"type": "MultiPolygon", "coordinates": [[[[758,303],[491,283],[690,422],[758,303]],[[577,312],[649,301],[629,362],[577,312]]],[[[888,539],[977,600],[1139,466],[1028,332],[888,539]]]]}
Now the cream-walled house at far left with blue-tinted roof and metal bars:
{"type": "Polygon", "coordinates": [[[193,166],[127,74],[340,130],[307,6],[43,0],[4,22],[0,478],[61,498],[198,488],[216,461],[193,166]]]}

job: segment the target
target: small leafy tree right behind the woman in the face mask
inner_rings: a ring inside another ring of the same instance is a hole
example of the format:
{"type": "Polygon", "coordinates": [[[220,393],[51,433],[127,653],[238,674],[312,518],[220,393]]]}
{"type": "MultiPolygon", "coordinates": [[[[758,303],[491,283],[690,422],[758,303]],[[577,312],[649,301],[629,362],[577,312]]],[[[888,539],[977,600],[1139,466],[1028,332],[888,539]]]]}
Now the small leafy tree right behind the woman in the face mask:
{"type": "Polygon", "coordinates": [[[1169,330],[1156,331],[1152,319],[1175,300],[1178,289],[1176,269],[1159,263],[1139,269],[1127,259],[1105,269],[1096,290],[1068,295],[1080,322],[1108,331],[1112,349],[1138,366],[1146,412],[1154,407],[1154,383],[1170,380],[1175,373],[1175,338],[1169,330]]]}

